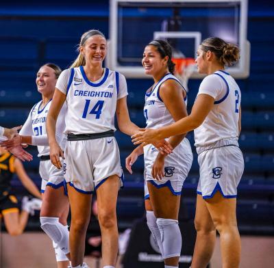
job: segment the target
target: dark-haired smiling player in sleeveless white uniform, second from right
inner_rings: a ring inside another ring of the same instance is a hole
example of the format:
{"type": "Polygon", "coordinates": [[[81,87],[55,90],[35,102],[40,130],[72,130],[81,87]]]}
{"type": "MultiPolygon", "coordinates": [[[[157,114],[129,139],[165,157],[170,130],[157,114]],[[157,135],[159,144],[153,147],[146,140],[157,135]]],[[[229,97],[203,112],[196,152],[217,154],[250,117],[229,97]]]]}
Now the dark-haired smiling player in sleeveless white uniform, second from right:
{"type": "MultiPolygon", "coordinates": [[[[142,57],[145,73],[154,84],[145,94],[144,114],[147,128],[169,125],[187,116],[186,91],[173,75],[171,46],[164,40],[153,40],[142,57]]],[[[145,207],[147,225],[158,243],[165,267],[178,267],[182,235],[178,213],[182,186],[192,164],[192,150],[186,134],[170,137],[171,155],[162,155],[153,145],[138,146],[126,159],[132,173],[132,164],[144,153],[145,207]]]]}

